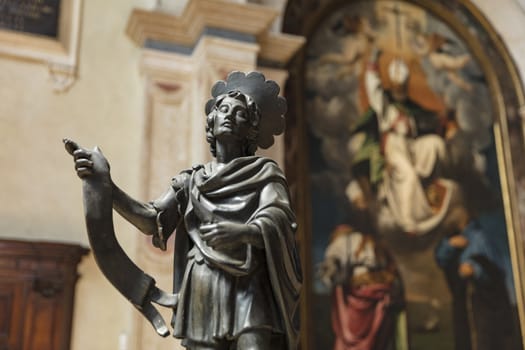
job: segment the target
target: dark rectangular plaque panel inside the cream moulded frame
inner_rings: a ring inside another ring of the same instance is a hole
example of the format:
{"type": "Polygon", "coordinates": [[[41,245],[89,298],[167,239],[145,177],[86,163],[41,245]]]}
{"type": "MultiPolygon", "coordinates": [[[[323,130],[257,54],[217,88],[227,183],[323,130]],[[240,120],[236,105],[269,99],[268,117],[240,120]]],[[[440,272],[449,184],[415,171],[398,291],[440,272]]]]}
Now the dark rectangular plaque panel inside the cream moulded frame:
{"type": "Polygon", "coordinates": [[[0,0],[0,28],[58,37],[60,0],[0,0]]]}

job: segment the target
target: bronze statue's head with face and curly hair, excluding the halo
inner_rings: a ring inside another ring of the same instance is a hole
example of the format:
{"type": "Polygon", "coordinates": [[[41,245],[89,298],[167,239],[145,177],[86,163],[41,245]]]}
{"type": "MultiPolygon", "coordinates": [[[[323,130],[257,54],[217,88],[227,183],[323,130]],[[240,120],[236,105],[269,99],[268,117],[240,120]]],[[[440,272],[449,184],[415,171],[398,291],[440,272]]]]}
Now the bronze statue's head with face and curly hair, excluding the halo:
{"type": "Polygon", "coordinates": [[[217,96],[206,118],[206,140],[213,156],[216,156],[217,137],[239,139],[243,154],[254,155],[260,120],[261,111],[250,96],[239,90],[217,96]]]}

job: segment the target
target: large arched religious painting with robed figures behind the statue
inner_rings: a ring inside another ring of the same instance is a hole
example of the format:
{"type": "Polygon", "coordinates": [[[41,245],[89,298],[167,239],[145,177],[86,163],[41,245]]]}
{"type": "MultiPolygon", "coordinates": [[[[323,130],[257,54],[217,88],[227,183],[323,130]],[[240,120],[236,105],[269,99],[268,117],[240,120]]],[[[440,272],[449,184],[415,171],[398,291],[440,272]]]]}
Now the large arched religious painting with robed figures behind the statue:
{"type": "Polygon", "coordinates": [[[463,21],[353,1],[311,31],[307,349],[522,349],[499,120],[516,111],[463,21]]]}

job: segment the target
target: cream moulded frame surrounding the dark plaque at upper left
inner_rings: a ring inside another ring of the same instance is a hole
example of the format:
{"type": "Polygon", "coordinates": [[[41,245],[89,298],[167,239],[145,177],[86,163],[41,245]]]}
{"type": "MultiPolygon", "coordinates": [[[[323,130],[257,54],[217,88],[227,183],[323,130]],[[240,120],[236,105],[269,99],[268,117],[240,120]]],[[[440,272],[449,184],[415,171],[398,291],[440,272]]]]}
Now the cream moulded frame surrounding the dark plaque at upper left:
{"type": "Polygon", "coordinates": [[[77,79],[82,0],[61,0],[58,37],[0,29],[0,55],[44,63],[53,89],[67,91],[77,79]]]}

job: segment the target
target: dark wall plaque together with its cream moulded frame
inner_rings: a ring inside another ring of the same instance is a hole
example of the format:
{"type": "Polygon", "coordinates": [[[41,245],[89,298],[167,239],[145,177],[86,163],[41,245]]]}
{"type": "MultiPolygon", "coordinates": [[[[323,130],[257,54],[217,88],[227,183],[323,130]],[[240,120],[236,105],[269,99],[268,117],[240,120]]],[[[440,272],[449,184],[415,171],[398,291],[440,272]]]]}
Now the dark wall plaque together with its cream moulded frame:
{"type": "Polygon", "coordinates": [[[0,56],[45,64],[53,89],[76,81],[82,0],[0,0],[0,56]]]}

